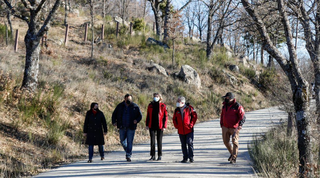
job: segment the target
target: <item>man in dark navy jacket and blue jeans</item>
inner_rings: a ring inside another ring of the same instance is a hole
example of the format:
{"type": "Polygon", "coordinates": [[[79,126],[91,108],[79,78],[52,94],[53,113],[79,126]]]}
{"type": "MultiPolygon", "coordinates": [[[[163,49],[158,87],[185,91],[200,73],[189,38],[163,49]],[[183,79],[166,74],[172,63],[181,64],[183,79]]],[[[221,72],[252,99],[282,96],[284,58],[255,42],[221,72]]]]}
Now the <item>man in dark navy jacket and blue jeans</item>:
{"type": "Polygon", "coordinates": [[[142,113],[139,106],[132,102],[131,94],[126,94],[124,101],[119,103],[112,113],[112,124],[120,129],[120,142],[128,162],[131,161],[133,138],[141,119],[142,113]]]}

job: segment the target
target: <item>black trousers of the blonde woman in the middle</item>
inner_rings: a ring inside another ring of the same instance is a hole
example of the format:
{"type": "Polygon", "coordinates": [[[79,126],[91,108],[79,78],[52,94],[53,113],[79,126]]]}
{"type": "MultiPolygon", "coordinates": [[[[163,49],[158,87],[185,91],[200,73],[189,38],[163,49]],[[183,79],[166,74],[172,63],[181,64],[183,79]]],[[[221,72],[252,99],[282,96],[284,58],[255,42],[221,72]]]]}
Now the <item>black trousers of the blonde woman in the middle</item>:
{"type": "Polygon", "coordinates": [[[161,129],[149,128],[150,133],[150,156],[156,156],[156,135],[157,135],[157,147],[158,147],[158,156],[162,156],[162,136],[163,131],[161,129]]]}

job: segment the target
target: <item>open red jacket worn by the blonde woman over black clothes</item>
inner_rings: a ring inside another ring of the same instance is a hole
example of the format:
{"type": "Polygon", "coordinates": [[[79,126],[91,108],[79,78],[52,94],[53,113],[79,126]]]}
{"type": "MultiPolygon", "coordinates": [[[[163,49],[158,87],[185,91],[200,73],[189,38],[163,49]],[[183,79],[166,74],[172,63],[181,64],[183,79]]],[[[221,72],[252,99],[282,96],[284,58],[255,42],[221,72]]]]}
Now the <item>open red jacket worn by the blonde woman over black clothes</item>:
{"type": "MultiPolygon", "coordinates": [[[[148,105],[146,126],[151,128],[151,117],[152,117],[152,103],[148,105]]],[[[159,103],[159,129],[167,128],[168,123],[168,112],[167,107],[164,103],[159,103]]]]}

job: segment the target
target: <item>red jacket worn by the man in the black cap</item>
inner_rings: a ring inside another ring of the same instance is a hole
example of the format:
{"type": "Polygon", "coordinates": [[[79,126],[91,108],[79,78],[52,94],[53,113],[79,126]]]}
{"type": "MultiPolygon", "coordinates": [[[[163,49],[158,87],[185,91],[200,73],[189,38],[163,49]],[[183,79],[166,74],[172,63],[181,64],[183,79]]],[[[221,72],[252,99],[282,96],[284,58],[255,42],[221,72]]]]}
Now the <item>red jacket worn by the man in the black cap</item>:
{"type": "Polygon", "coordinates": [[[236,102],[236,99],[231,104],[228,104],[228,108],[226,107],[226,102],[222,104],[220,126],[227,128],[236,128],[238,125],[242,126],[245,122],[245,114],[241,104],[236,102]]]}

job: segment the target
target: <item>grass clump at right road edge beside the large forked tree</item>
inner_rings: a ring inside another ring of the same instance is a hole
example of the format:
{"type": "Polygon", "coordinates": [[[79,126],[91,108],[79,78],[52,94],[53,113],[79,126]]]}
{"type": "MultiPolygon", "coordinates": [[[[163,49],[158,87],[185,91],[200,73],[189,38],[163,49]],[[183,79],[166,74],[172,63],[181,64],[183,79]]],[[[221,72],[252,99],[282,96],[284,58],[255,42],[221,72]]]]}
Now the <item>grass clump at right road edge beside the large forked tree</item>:
{"type": "Polygon", "coordinates": [[[262,177],[291,177],[298,168],[297,137],[286,126],[277,126],[265,135],[255,135],[248,145],[253,167],[262,177]],[[290,176],[291,175],[291,176],[290,176]]]}

